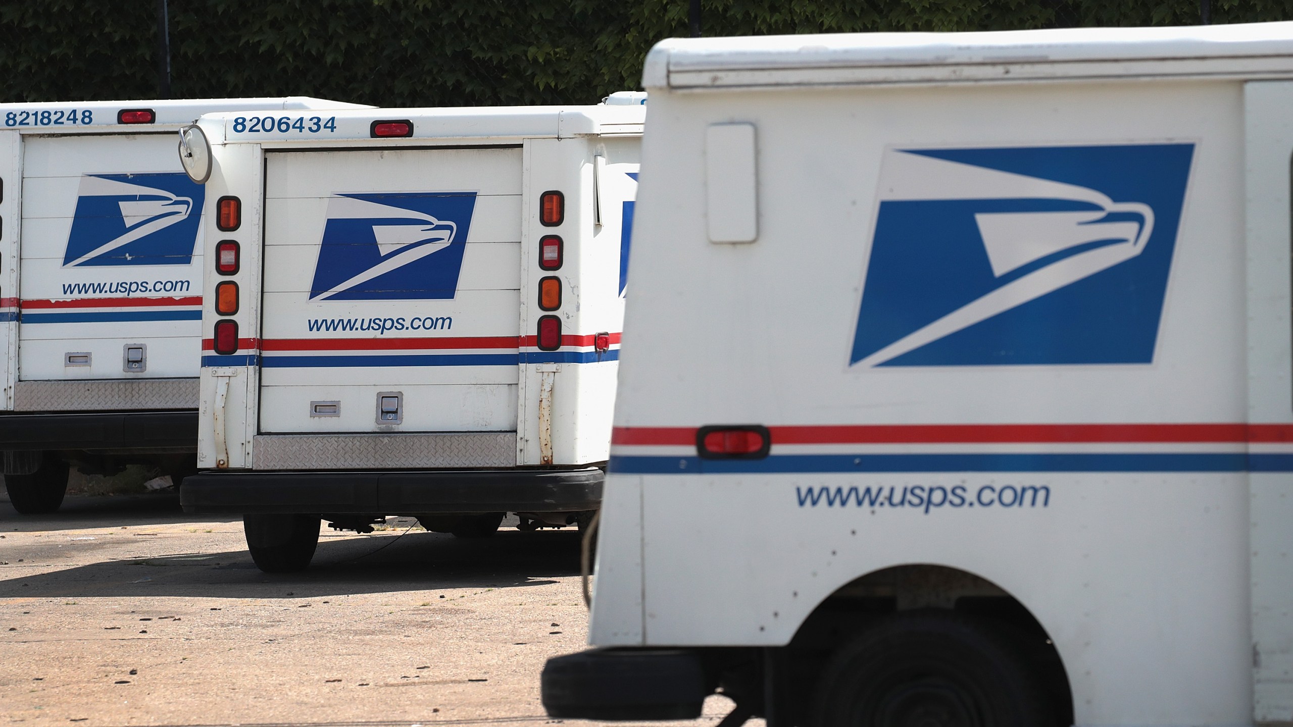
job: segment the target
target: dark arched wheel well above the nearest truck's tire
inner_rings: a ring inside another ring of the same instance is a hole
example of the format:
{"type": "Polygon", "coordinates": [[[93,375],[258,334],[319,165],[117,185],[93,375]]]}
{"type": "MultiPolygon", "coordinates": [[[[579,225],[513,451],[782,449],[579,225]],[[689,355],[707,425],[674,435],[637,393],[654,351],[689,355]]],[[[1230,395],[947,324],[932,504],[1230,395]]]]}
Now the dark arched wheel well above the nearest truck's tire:
{"type": "MultiPolygon", "coordinates": [[[[1059,651],[1032,612],[1002,587],[957,568],[910,564],[851,581],[822,600],[789,644],[793,691],[807,699],[830,655],[870,624],[899,611],[945,608],[992,624],[1019,644],[1055,705],[1055,723],[1073,723],[1073,697],[1059,651]]],[[[796,700],[799,701],[799,700],[796,700]]]]}

